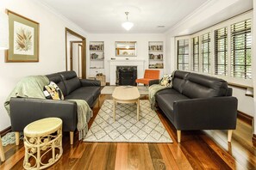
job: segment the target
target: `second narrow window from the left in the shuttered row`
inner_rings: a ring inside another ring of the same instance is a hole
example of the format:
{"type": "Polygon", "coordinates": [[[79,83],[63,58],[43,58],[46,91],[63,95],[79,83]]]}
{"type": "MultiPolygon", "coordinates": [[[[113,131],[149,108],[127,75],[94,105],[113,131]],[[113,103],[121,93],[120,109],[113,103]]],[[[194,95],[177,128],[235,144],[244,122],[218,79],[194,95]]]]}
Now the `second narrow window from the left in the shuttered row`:
{"type": "Polygon", "coordinates": [[[192,70],[199,71],[199,37],[193,38],[192,41],[193,41],[192,70]]]}

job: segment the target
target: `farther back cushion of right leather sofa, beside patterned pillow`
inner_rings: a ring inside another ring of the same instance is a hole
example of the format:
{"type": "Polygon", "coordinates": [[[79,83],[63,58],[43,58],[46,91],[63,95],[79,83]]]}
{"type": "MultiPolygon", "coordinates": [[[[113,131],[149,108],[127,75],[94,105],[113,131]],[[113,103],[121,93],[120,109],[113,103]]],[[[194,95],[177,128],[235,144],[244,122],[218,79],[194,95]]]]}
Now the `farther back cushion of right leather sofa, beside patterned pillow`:
{"type": "Polygon", "coordinates": [[[182,94],[183,86],[186,81],[186,76],[188,76],[189,74],[190,72],[176,70],[172,77],[172,88],[182,94]]]}

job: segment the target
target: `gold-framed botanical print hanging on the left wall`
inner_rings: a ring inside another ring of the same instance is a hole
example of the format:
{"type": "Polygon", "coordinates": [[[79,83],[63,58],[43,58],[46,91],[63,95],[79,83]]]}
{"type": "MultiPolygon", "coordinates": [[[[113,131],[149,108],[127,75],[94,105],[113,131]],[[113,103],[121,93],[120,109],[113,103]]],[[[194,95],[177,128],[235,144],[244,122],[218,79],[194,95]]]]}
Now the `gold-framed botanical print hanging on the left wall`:
{"type": "Polygon", "coordinates": [[[6,63],[39,62],[40,24],[9,9],[9,50],[5,51],[6,63]]]}

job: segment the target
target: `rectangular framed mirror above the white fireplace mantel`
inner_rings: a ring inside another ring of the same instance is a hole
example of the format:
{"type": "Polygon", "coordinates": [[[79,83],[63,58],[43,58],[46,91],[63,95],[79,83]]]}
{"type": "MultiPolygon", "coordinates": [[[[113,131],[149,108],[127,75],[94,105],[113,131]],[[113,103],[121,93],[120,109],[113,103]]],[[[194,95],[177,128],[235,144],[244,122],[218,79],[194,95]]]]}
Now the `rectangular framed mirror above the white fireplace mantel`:
{"type": "Polygon", "coordinates": [[[136,41],[116,41],[116,57],[135,57],[136,41]]]}

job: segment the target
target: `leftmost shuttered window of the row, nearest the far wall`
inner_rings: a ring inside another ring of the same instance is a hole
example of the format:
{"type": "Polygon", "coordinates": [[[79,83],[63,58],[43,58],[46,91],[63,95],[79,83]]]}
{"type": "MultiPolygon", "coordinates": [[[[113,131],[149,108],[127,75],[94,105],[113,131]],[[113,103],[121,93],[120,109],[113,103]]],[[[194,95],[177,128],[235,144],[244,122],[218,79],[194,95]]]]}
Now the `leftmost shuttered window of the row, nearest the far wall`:
{"type": "Polygon", "coordinates": [[[189,70],[189,39],[178,40],[178,70],[189,70]]]}

